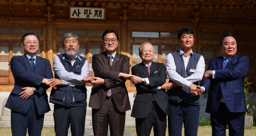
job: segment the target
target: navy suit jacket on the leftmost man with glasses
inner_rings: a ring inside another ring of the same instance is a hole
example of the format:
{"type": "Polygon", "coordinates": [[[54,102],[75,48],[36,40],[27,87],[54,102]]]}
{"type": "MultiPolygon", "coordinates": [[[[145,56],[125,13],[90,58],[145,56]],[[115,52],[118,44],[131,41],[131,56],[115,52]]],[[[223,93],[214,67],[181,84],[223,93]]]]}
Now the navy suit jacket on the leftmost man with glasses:
{"type": "Polygon", "coordinates": [[[50,111],[48,96],[46,94],[49,86],[41,84],[44,78],[53,78],[50,61],[36,56],[35,74],[33,74],[30,61],[25,54],[12,57],[10,65],[12,74],[14,75],[15,85],[5,107],[24,114],[28,112],[31,102],[35,100],[37,111],[40,115],[50,111]],[[24,87],[34,87],[38,90],[38,93],[34,93],[28,99],[21,99],[20,93],[24,91],[22,90],[24,87]]]}

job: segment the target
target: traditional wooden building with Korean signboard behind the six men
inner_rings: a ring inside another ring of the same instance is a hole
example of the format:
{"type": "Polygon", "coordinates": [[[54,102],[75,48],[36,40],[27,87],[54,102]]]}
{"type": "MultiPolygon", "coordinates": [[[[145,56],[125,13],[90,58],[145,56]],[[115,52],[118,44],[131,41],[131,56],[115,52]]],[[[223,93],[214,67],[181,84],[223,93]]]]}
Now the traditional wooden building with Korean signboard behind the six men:
{"type": "MultiPolygon", "coordinates": [[[[62,37],[77,34],[79,54],[89,60],[104,51],[102,33],[114,28],[119,33],[118,52],[130,57],[130,67],[141,62],[138,46],[156,47],[155,62],[165,63],[168,53],[180,46],[177,32],[184,27],[195,32],[192,50],[210,58],[222,55],[220,38],[232,32],[238,40],[238,55],[250,59],[247,77],[256,82],[255,0],[0,0],[0,91],[14,85],[9,62],[23,55],[21,37],[26,32],[40,36],[38,55],[49,59],[63,53],[62,37]],[[98,17],[98,18],[97,18],[98,17]]],[[[90,84],[87,84],[90,86],[90,84]]],[[[134,85],[126,82],[129,91],[134,85]]]]}

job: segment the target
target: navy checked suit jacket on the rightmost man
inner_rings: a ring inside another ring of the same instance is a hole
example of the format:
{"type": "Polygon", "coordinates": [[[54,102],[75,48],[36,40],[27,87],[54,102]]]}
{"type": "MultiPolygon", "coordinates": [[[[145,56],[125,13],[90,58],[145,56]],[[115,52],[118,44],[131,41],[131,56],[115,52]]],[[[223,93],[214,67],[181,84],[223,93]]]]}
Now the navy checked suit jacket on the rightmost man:
{"type": "Polygon", "coordinates": [[[222,69],[223,62],[223,56],[210,59],[207,70],[215,70],[216,78],[205,78],[200,85],[205,89],[209,88],[206,112],[215,113],[218,110],[221,95],[231,112],[246,112],[244,76],[248,70],[249,59],[246,56],[234,55],[225,69],[222,69]]]}

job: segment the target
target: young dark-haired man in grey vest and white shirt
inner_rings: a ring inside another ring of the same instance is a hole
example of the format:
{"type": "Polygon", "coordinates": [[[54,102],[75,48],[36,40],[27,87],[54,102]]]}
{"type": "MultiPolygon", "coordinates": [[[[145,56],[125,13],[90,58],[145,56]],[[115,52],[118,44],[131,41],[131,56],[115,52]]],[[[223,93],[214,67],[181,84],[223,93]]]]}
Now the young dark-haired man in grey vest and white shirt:
{"type": "Polygon", "coordinates": [[[194,32],[182,28],[178,32],[180,50],[166,57],[166,70],[172,89],[169,97],[169,136],[181,136],[184,124],[185,136],[196,136],[199,120],[199,81],[204,75],[204,57],[192,52],[194,32]],[[197,96],[194,96],[197,95],[197,96]]]}

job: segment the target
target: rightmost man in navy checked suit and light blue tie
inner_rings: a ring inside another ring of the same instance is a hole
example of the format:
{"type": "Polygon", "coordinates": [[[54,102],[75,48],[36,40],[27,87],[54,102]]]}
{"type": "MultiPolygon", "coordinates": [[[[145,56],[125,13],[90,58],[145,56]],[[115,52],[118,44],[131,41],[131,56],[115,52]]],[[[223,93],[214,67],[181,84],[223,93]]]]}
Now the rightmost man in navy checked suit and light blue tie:
{"type": "Polygon", "coordinates": [[[236,55],[237,41],[226,33],[220,40],[222,56],[210,59],[204,73],[201,91],[209,88],[206,112],[210,113],[212,136],[244,135],[244,114],[247,112],[244,96],[244,76],[249,59],[236,55]]]}

